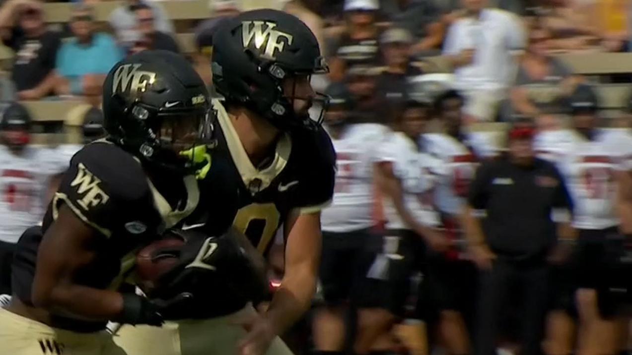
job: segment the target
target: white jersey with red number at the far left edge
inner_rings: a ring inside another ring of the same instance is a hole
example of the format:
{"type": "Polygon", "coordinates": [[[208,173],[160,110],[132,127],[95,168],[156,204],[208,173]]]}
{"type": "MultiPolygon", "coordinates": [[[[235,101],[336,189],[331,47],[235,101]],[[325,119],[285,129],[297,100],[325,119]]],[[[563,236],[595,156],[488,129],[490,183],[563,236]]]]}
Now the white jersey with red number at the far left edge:
{"type": "Polygon", "coordinates": [[[0,241],[17,243],[42,221],[49,180],[68,164],[49,148],[27,146],[16,155],[0,146],[0,241]]]}

